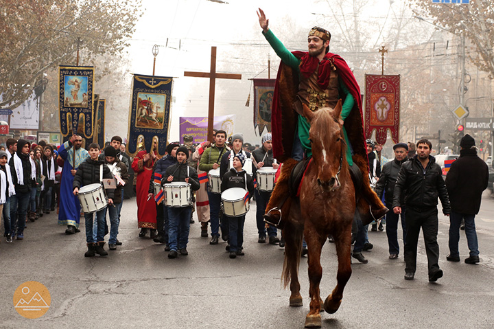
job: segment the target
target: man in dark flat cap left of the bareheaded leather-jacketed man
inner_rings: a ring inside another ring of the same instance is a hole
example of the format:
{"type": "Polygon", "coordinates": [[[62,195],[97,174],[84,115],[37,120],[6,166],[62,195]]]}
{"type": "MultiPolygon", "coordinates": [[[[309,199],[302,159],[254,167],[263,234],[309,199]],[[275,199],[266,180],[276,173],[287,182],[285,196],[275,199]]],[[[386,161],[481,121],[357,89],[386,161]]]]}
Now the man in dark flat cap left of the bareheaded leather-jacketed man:
{"type": "MultiPolygon", "coordinates": [[[[376,183],[376,194],[379,198],[382,198],[384,194],[384,201],[388,209],[392,209],[392,198],[395,192],[395,183],[398,178],[398,173],[401,165],[408,161],[408,145],[405,143],[398,143],[393,146],[395,151],[395,159],[386,163],[379,176],[379,181],[376,183]]],[[[403,196],[403,195],[402,195],[403,196]]],[[[403,201],[403,198],[402,198],[403,201]]],[[[403,204],[403,202],[402,202],[403,204]]],[[[406,236],[406,225],[405,225],[405,212],[404,206],[401,212],[401,228],[403,229],[403,242],[405,242],[406,236]]],[[[389,246],[389,259],[395,260],[398,258],[399,254],[399,243],[398,243],[398,220],[400,215],[394,212],[388,212],[386,214],[386,236],[388,236],[388,246],[389,246]]]]}

